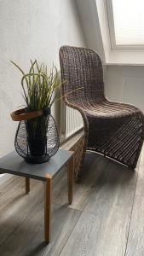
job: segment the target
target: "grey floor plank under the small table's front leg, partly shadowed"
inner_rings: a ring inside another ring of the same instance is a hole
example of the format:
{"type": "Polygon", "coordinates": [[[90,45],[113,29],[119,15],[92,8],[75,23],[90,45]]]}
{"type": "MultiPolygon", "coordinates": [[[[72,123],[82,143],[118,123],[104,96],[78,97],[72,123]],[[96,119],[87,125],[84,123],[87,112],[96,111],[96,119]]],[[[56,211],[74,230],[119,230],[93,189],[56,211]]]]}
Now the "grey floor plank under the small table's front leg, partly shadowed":
{"type": "MultiPolygon", "coordinates": [[[[43,240],[43,204],[31,212],[0,247],[0,255],[60,255],[81,212],[66,207],[52,207],[52,237],[49,245],[43,240]],[[22,236],[21,236],[22,234],[22,236]]],[[[14,218],[13,218],[14,222],[14,218]]]]}

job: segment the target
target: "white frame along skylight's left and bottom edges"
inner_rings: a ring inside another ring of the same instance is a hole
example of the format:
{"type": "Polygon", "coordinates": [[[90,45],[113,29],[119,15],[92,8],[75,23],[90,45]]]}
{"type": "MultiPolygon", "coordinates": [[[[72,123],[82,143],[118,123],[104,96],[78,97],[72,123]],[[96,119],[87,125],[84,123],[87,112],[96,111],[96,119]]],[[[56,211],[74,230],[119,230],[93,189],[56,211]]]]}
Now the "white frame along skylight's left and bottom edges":
{"type": "Polygon", "coordinates": [[[112,0],[105,0],[111,49],[144,49],[144,44],[116,44],[112,0]]]}

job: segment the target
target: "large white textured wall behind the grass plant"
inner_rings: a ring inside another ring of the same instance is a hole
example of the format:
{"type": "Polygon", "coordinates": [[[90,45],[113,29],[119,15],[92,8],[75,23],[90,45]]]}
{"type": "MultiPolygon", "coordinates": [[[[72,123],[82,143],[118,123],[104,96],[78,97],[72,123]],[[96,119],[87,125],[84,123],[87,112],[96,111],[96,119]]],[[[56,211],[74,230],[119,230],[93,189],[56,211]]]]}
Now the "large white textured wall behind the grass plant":
{"type": "Polygon", "coordinates": [[[19,71],[30,59],[59,65],[62,44],[84,46],[84,35],[73,0],[0,1],[0,156],[14,148],[18,123],[9,113],[22,104],[19,71]]]}

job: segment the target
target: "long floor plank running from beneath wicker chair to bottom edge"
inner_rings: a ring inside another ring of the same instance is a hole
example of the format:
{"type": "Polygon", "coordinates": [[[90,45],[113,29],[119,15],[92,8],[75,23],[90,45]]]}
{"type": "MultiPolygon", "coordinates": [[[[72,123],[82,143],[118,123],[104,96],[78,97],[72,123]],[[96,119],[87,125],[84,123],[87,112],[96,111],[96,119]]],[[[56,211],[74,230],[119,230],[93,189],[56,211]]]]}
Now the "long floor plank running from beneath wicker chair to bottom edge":
{"type": "Polygon", "coordinates": [[[103,172],[60,256],[124,256],[137,174],[107,159],[99,168],[103,172]]]}

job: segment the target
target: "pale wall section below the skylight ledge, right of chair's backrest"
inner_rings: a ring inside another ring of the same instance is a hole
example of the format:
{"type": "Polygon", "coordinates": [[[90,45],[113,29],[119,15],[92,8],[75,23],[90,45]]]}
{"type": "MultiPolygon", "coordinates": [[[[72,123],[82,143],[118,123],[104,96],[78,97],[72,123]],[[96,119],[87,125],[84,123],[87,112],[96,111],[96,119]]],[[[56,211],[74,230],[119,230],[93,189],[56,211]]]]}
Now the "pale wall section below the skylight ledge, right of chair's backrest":
{"type": "Polygon", "coordinates": [[[112,101],[134,104],[144,112],[144,67],[107,67],[105,90],[112,101]]]}

